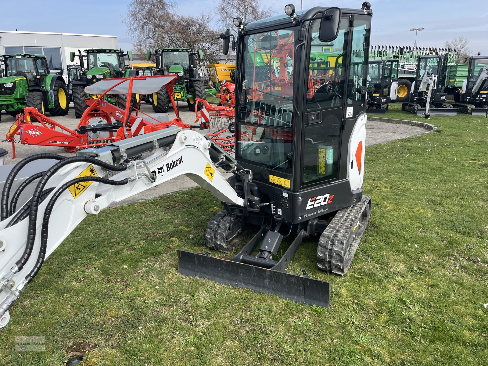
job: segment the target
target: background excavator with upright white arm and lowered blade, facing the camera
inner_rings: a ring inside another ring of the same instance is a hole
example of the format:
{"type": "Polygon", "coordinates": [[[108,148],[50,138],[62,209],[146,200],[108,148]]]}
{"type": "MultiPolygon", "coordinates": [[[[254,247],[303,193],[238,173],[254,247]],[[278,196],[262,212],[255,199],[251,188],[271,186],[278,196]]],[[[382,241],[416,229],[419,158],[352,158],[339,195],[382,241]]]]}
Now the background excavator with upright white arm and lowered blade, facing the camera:
{"type": "Polygon", "coordinates": [[[457,109],[447,103],[446,77],[448,55],[419,56],[409,102],[402,110],[417,116],[457,116],[457,109]]]}

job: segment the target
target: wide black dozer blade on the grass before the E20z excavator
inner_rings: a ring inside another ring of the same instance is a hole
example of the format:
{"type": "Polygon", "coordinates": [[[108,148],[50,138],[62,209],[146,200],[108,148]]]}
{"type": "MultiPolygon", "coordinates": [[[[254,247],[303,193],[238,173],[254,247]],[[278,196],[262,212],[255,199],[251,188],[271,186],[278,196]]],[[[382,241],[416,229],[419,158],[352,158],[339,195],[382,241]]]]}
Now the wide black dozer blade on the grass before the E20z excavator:
{"type": "Polygon", "coordinates": [[[293,302],[328,307],[329,283],[186,250],[178,252],[178,272],[233,287],[278,295],[293,302]]]}

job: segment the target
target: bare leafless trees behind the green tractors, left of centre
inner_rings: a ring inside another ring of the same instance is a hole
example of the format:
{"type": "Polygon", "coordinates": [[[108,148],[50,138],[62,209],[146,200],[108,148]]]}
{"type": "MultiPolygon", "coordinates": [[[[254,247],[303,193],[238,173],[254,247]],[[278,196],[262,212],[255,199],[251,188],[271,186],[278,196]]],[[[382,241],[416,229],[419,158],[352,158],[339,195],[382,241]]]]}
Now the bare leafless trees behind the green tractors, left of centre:
{"type": "Polygon", "coordinates": [[[220,32],[212,29],[211,21],[210,14],[180,16],[176,3],[164,0],[132,0],[123,20],[136,54],[164,47],[201,49],[205,61],[198,60],[198,66],[216,61],[222,52],[220,32]]]}

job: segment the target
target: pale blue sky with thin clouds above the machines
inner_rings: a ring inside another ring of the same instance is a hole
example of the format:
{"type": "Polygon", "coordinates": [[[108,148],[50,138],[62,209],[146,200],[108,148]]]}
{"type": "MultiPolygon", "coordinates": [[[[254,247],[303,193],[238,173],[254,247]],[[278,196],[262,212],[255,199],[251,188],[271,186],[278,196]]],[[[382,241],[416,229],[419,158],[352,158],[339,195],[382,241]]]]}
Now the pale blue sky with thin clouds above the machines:
{"type": "MultiPolygon", "coordinates": [[[[239,1],[239,0],[236,0],[239,1]]],[[[284,12],[288,1],[266,0],[277,14],[284,12]]],[[[19,12],[15,1],[0,0],[2,9],[1,30],[36,31],[103,34],[118,36],[119,47],[132,49],[132,41],[126,35],[127,28],[122,23],[130,0],[83,0],[82,2],[59,0],[23,0],[24,9],[35,11],[19,12]],[[61,5],[60,5],[61,4],[61,5]],[[76,5],[75,5],[76,4],[76,5]],[[8,14],[15,14],[9,17],[8,14]],[[55,18],[49,20],[51,14],[55,18]],[[41,20],[41,21],[40,21],[41,20]]],[[[360,8],[363,0],[317,1],[303,0],[303,9],[313,6],[338,6],[360,8]]],[[[454,37],[469,40],[468,48],[472,54],[481,52],[488,55],[488,7],[481,0],[371,0],[373,19],[371,25],[371,44],[413,46],[415,32],[412,27],[425,29],[418,32],[420,47],[443,47],[445,41],[454,37]]],[[[184,15],[198,15],[212,11],[219,1],[179,0],[179,11],[184,15]]],[[[296,9],[301,2],[294,2],[296,9]]],[[[215,26],[218,26],[214,20],[215,26]]]]}

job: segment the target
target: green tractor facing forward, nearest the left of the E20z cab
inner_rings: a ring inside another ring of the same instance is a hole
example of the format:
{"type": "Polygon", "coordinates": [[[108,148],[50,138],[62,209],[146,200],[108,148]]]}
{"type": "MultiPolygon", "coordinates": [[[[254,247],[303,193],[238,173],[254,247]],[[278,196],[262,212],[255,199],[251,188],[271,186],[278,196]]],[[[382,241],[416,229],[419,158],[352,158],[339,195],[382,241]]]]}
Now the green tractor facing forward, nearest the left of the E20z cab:
{"type": "MultiPolygon", "coordinates": [[[[152,56],[151,51],[147,51],[147,60],[152,56]]],[[[203,80],[198,77],[197,63],[195,56],[203,59],[202,50],[192,53],[189,48],[162,48],[154,51],[156,58],[155,75],[176,74],[173,87],[173,98],[175,101],[188,104],[190,111],[195,110],[195,99],[206,99],[205,85],[203,80]]],[[[153,94],[153,109],[156,113],[167,112],[171,102],[166,88],[153,94]]]]}

